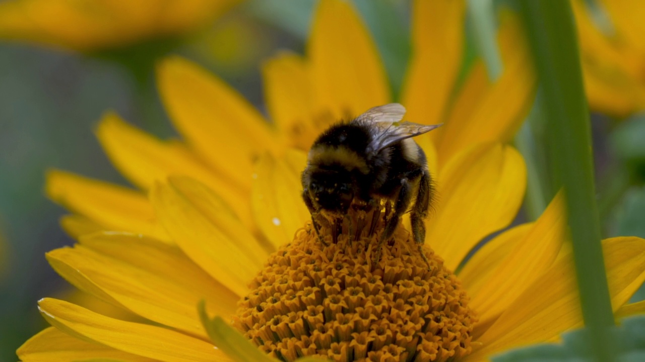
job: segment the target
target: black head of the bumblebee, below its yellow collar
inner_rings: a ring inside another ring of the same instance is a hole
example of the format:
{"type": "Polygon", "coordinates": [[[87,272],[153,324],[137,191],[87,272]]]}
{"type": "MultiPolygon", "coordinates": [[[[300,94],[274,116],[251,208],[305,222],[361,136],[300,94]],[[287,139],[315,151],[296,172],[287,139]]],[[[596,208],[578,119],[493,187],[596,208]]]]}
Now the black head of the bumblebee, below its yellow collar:
{"type": "Polygon", "coordinates": [[[354,198],[352,175],[346,170],[317,170],[312,173],[309,193],[313,203],[332,213],[346,213],[354,198]]]}

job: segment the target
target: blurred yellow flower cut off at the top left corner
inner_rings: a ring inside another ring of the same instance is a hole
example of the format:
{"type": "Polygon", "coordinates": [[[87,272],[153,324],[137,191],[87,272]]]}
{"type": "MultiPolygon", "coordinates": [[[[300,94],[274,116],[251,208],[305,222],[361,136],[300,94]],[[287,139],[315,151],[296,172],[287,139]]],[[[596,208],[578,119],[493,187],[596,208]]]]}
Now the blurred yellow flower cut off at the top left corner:
{"type": "Polygon", "coordinates": [[[238,1],[10,0],[0,38],[92,52],[190,32],[238,1]]]}

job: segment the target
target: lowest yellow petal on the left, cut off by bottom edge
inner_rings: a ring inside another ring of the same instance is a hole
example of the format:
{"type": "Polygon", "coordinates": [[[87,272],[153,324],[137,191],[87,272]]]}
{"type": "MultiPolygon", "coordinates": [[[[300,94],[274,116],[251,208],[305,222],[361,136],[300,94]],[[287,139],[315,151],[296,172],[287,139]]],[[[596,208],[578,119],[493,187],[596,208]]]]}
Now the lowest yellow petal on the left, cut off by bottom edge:
{"type": "Polygon", "coordinates": [[[54,327],[42,330],[16,351],[23,362],[70,362],[90,359],[117,359],[127,362],[152,362],[154,359],[129,354],[64,334],[54,327]]]}

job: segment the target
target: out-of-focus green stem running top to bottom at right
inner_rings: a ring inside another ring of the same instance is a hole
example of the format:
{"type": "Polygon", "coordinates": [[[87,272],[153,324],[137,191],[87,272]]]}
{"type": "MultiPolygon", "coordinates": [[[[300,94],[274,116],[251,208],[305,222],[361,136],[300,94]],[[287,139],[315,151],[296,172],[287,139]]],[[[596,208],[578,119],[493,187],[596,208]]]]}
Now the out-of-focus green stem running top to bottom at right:
{"type": "Polygon", "coordinates": [[[548,139],[564,186],[582,316],[597,361],[613,361],[610,294],[595,202],[591,130],[573,14],[568,1],[520,0],[540,78],[548,139]]]}

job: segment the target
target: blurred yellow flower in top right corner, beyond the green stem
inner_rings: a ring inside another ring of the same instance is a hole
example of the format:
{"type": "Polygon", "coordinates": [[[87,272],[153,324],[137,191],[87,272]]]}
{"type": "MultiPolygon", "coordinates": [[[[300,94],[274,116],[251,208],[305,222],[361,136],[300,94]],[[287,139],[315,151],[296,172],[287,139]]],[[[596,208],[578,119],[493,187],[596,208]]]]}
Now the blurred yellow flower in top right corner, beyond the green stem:
{"type": "Polygon", "coordinates": [[[617,117],[645,109],[645,43],[639,0],[601,0],[610,24],[600,28],[584,1],[572,0],[584,86],[591,109],[617,117]]]}

